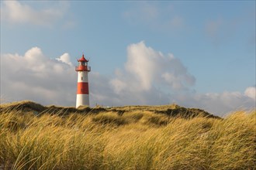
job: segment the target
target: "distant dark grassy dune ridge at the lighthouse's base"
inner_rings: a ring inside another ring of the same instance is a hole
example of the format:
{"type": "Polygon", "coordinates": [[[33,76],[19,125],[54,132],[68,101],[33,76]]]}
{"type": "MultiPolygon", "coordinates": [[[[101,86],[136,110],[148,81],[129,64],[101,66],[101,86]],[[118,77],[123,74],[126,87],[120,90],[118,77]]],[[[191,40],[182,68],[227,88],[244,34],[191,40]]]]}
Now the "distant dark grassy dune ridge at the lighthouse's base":
{"type": "Polygon", "coordinates": [[[24,100],[19,102],[14,102],[11,104],[2,104],[0,105],[0,112],[6,110],[18,110],[23,112],[33,112],[34,114],[59,114],[59,115],[67,115],[70,113],[78,113],[78,114],[99,114],[100,112],[116,112],[119,115],[122,115],[126,112],[144,112],[149,111],[154,114],[165,114],[171,117],[212,117],[212,118],[220,118],[216,117],[213,114],[209,114],[205,110],[197,109],[197,108],[185,108],[180,107],[176,104],[171,105],[160,105],[160,106],[124,106],[124,107],[78,107],[78,109],[74,107],[57,107],[54,105],[51,106],[42,106],[41,104],[36,104],[33,101],[24,100]]]}

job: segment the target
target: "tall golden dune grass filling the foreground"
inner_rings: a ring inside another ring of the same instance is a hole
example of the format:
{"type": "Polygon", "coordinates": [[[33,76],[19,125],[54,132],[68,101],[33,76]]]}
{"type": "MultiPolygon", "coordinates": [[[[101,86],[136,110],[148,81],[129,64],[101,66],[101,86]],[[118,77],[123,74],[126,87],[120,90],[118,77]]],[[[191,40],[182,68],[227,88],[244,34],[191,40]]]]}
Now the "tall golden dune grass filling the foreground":
{"type": "Polygon", "coordinates": [[[152,108],[29,108],[0,107],[0,169],[256,168],[255,111],[185,119],[152,108]]]}

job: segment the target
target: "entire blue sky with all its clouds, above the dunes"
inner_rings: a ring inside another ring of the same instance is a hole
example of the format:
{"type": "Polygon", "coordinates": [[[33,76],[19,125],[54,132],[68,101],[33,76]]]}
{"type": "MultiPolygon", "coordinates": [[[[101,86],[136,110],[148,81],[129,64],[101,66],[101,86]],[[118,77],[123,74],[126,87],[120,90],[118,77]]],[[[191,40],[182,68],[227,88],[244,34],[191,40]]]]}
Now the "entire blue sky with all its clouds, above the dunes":
{"type": "Polygon", "coordinates": [[[1,103],[255,108],[255,1],[1,1],[1,103]]]}

